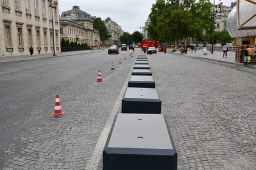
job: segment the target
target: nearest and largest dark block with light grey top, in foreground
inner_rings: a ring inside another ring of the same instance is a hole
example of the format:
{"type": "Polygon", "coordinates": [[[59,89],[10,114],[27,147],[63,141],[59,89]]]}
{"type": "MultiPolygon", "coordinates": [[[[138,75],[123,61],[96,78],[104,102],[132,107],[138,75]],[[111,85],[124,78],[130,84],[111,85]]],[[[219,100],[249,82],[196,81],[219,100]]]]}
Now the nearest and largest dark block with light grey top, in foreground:
{"type": "Polygon", "coordinates": [[[105,143],[103,170],[177,169],[177,151],[164,115],[118,114],[105,143]]]}

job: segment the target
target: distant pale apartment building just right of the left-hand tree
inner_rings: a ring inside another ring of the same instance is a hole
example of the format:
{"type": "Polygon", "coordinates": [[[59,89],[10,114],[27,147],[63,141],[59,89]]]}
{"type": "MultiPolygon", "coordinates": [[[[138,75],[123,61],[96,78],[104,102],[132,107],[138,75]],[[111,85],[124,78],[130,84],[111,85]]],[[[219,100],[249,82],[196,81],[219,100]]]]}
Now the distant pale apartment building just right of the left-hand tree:
{"type": "Polygon", "coordinates": [[[111,46],[113,44],[120,43],[120,36],[123,35],[124,31],[121,29],[121,26],[116,24],[116,22],[112,21],[109,17],[104,21],[108,34],[111,35],[111,38],[105,41],[105,44],[111,46]]]}

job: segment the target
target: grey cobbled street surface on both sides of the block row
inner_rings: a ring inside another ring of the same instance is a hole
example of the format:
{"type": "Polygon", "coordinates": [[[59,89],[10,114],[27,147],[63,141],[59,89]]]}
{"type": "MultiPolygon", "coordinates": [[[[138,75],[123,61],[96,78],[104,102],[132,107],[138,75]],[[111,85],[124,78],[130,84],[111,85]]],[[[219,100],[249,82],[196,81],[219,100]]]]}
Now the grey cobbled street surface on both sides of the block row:
{"type": "MultiPolygon", "coordinates": [[[[102,169],[102,148],[140,52],[131,58],[130,51],[0,63],[0,169],[102,169]],[[55,94],[63,117],[51,117],[55,94]]],[[[147,56],[178,169],[256,169],[255,67],[147,56]]]]}

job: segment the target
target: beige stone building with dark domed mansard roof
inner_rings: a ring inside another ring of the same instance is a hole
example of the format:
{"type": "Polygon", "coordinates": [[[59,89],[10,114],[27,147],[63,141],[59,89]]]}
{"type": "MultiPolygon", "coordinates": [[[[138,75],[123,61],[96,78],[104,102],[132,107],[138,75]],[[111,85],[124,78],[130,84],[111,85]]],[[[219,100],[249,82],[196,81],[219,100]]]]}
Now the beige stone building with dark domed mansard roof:
{"type": "Polygon", "coordinates": [[[75,5],[72,10],[62,12],[60,17],[60,39],[87,44],[88,46],[99,46],[99,32],[93,29],[93,17],[87,12],[80,10],[75,5]]]}

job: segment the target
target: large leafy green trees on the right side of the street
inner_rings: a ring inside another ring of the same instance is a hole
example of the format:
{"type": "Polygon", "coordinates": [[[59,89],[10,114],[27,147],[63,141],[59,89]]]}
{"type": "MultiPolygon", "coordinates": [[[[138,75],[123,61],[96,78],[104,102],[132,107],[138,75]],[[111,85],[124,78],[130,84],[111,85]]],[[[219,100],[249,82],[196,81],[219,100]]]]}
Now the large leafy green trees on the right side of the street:
{"type": "MultiPolygon", "coordinates": [[[[212,43],[212,4],[207,0],[157,0],[152,4],[148,35],[160,42],[192,38],[212,43]]],[[[215,32],[216,38],[232,41],[226,32],[215,32]],[[219,35],[219,37],[217,36],[219,35]],[[220,36],[221,35],[221,36],[220,36]]]]}

